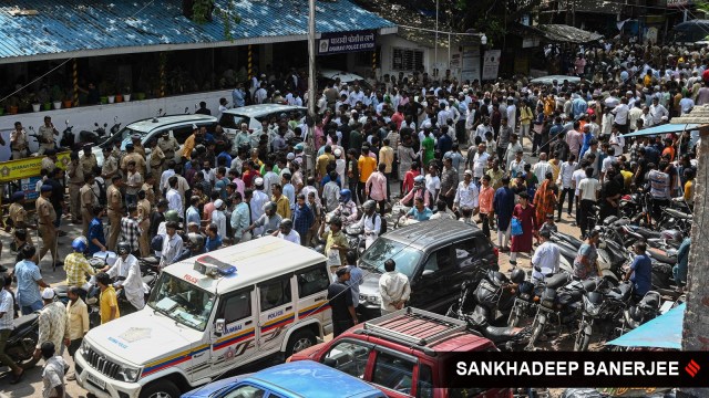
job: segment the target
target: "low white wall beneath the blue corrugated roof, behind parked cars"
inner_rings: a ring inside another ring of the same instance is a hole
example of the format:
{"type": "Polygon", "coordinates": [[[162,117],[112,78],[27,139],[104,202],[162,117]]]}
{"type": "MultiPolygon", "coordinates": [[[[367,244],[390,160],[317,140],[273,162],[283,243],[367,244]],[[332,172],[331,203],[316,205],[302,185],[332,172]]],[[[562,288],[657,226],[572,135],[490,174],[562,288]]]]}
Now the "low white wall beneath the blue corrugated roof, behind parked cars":
{"type": "MultiPolygon", "coordinates": [[[[212,115],[216,116],[220,97],[225,97],[229,102],[229,105],[232,105],[230,91],[216,91],[156,100],[131,101],[120,104],[81,106],[59,111],[52,109],[0,116],[0,134],[2,134],[2,137],[8,144],[0,147],[0,161],[10,158],[10,132],[14,128],[16,122],[22,123],[28,134],[32,134],[29,129],[30,126],[34,127],[37,133],[39,127],[44,123],[44,116],[51,116],[54,127],[60,132],[60,136],[56,138],[56,143],[59,143],[61,133],[65,127],[65,119],[69,119],[69,125],[74,127],[73,132],[78,135],[79,132],[83,129],[94,129],[94,123],[99,123],[100,125],[107,123],[110,128],[113,125],[113,118],[115,116],[119,117],[121,127],[124,127],[135,121],[153,117],[160,109],[163,109],[163,113],[167,115],[182,115],[185,113],[185,107],[187,107],[187,113],[194,113],[195,105],[201,101],[205,101],[207,107],[212,111],[212,115]]],[[[132,100],[134,100],[134,95],[132,100]]],[[[33,137],[29,137],[29,140],[31,151],[35,153],[39,148],[37,140],[33,137]]]]}

